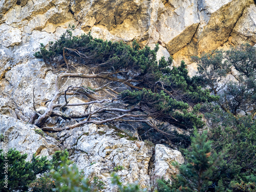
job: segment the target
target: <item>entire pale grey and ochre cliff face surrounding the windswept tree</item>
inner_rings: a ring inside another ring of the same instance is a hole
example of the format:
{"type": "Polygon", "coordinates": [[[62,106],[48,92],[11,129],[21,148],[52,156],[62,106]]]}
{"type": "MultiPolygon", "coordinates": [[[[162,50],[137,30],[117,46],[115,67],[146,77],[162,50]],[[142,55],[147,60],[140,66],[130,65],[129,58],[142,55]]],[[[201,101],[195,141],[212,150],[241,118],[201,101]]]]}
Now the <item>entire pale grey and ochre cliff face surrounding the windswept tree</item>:
{"type": "MultiPolygon", "coordinates": [[[[190,63],[190,56],[256,43],[255,12],[253,0],[0,0],[0,131],[10,133],[8,147],[28,153],[28,160],[33,153],[50,157],[68,148],[86,177],[97,176],[106,183],[105,191],[116,190],[110,185],[110,173],[118,165],[124,167],[117,172],[124,183],[139,181],[148,187],[158,176],[170,178],[177,174],[171,162],[184,162],[180,152],[120,138],[106,125],[84,125],[51,137],[36,134],[37,127],[27,122],[34,105],[38,114],[44,113],[42,101],[54,95],[56,73],[33,54],[40,43],[55,41],[70,24],[75,25],[75,36],[91,32],[95,38],[127,44],[136,39],[140,47],[152,49],[159,44],[158,59],[173,56],[174,65],[185,60],[191,64],[189,75],[194,76],[197,66],[190,63]]],[[[97,83],[69,79],[66,86],[94,88],[97,83]]],[[[74,97],[71,103],[80,101],[84,98],[74,97]]],[[[73,107],[67,113],[84,110],[73,107]]],[[[52,118],[47,123],[66,122],[52,118]]]]}

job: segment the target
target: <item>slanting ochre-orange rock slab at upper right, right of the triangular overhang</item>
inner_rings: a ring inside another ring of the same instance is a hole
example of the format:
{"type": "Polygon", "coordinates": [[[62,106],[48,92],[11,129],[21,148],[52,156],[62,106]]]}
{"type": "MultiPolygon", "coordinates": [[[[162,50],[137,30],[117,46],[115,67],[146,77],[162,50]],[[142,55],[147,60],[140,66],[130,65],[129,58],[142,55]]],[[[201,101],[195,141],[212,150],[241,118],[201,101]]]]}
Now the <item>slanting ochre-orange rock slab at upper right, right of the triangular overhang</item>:
{"type": "Polygon", "coordinates": [[[251,4],[253,0],[198,1],[199,27],[189,44],[174,54],[176,61],[189,62],[190,56],[222,47],[251,4]]]}

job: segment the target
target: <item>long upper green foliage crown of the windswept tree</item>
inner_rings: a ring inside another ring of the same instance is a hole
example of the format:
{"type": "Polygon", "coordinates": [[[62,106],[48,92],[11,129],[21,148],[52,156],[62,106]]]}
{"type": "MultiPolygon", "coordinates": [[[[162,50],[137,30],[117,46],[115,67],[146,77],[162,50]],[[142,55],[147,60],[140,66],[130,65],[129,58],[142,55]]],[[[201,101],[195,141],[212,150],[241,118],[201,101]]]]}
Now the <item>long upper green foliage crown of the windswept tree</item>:
{"type": "MultiPolygon", "coordinates": [[[[158,46],[154,50],[149,47],[139,50],[136,41],[133,42],[133,47],[130,47],[122,41],[94,39],[90,33],[74,37],[69,29],[61,35],[59,40],[49,44],[48,49],[41,45],[40,51],[34,54],[35,57],[42,58],[48,63],[57,62],[54,58],[62,55],[63,49],[65,49],[69,57],[75,58],[83,65],[93,67],[96,72],[133,70],[130,76],[138,82],[147,83],[148,86],[154,86],[152,83],[161,77],[161,70],[166,70],[167,67],[166,63],[158,66],[156,60],[158,46]],[[140,74],[139,78],[138,73],[140,74]]],[[[172,58],[169,60],[171,62],[172,58]]],[[[63,62],[62,59],[58,64],[63,62]]]]}

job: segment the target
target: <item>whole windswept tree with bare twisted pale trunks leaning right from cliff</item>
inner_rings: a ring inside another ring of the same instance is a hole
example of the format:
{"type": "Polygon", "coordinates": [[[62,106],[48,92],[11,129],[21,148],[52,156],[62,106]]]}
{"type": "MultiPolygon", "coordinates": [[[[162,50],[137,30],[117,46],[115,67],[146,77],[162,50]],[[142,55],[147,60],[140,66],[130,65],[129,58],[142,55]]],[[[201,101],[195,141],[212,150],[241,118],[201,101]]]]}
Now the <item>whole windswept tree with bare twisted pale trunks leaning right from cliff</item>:
{"type": "Polygon", "coordinates": [[[198,115],[201,104],[218,98],[189,78],[184,62],[173,69],[169,68],[171,57],[168,61],[162,58],[158,62],[157,51],[158,46],[154,50],[149,47],[139,49],[136,41],[130,47],[123,42],[93,39],[90,33],[74,37],[71,30],[67,30],[59,40],[50,42],[49,48],[41,45],[40,51],[35,53],[37,58],[56,67],[56,71],[65,71],[63,67],[66,67],[66,72],[56,72],[56,92],[46,112],[35,115],[31,122],[45,131],[69,130],[85,123],[113,121],[140,121],[157,131],[156,121],[184,130],[194,125],[202,127],[204,123],[198,115]],[[71,63],[82,65],[87,72],[76,72],[76,65],[71,63]],[[104,83],[97,88],[68,86],[65,80],[70,78],[101,79],[104,83]],[[103,98],[100,96],[102,93],[105,94],[103,98]],[[68,97],[76,95],[90,101],[71,104],[68,97]],[[65,102],[58,103],[60,98],[65,102]],[[80,115],[65,113],[69,106],[79,105],[88,106],[89,110],[80,115]],[[97,106],[95,110],[90,110],[92,105],[97,106]],[[54,116],[78,122],[64,127],[44,126],[47,119],[54,116]]]}

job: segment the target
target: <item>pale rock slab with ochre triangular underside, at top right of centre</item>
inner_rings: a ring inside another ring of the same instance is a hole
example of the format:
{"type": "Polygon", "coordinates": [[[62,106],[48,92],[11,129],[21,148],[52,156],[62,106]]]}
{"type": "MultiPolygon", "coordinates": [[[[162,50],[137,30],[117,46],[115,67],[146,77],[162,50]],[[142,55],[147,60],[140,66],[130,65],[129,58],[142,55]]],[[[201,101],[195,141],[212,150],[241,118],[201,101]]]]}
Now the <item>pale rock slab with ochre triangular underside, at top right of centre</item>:
{"type": "Polygon", "coordinates": [[[196,0],[166,1],[164,4],[156,30],[159,40],[165,44],[171,55],[186,46],[197,31],[200,22],[197,4],[196,0]]]}

